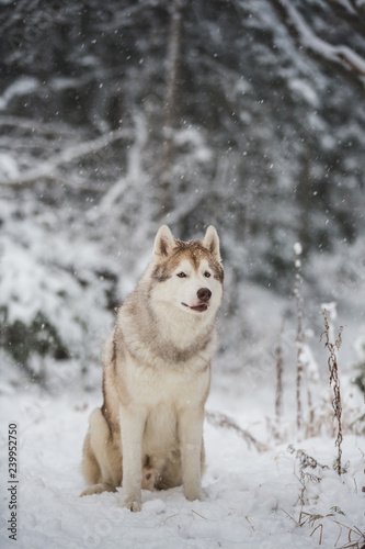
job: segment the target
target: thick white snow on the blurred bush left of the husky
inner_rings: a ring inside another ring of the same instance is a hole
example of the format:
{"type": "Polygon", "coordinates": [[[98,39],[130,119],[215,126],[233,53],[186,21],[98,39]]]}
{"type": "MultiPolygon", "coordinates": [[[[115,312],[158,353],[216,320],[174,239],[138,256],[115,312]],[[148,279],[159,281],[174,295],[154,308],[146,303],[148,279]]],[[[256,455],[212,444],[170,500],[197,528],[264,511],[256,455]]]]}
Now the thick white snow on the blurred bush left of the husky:
{"type": "MultiPolygon", "coordinates": [[[[22,323],[31,334],[41,315],[57,330],[70,356],[88,361],[93,355],[98,360],[102,338],[112,325],[105,310],[109,282],[100,274],[98,247],[78,238],[70,246],[69,238],[56,234],[56,217],[44,215],[21,223],[15,212],[16,204],[1,203],[0,214],[9,229],[0,246],[1,265],[7,266],[1,269],[2,322],[22,323]],[[98,314],[90,315],[90,311],[98,314]]],[[[111,264],[104,262],[103,268],[113,272],[111,264]]]]}

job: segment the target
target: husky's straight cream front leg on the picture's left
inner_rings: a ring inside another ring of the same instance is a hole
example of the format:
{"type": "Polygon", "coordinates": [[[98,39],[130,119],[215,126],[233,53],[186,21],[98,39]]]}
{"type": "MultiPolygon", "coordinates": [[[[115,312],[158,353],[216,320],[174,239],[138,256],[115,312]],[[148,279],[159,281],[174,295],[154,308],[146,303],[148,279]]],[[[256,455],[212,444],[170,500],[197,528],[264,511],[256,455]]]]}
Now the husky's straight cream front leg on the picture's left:
{"type": "Polygon", "coordinates": [[[144,408],[121,407],[123,452],[123,506],[130,511],[141,509],[141,442],[147,412],[144,408]]]}

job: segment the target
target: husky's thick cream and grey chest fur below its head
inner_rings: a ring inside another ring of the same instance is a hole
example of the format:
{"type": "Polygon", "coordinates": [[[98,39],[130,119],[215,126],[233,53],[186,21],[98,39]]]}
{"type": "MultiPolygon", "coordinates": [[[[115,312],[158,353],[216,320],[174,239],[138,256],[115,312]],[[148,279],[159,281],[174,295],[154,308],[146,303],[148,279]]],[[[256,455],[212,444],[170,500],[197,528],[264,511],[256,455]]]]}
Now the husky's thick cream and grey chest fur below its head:
{"type": "Polygon", "coordinates": [[[161,320],[158,323],[149,317],[148,311],[144,315],[130,314],[135,305],[130,296],[130,303],[126,302],[119,310],[114,336],[121,396],[148,407],[205,401],[215,346],[214,328],[205,327],[202,334],[196,334],[191,326],[180,325],[185,337],[187,332],[190,343],[184,345],[185,337],[180,338],[179,330],[172,337],[171,318],[163,325],[161,320]]]}

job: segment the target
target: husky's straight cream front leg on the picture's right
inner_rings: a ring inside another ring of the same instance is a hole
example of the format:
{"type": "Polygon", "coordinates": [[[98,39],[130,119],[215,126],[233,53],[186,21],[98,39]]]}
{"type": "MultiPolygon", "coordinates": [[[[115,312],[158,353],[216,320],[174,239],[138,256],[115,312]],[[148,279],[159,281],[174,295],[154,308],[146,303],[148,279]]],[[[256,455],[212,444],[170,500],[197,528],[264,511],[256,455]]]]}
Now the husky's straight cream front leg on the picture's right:
{"type": "Polygon", "coordinates": [[[201,497],[201,451],[204,410],[185,408],[179,413],[179,439],[185,497],[201,497]]]}

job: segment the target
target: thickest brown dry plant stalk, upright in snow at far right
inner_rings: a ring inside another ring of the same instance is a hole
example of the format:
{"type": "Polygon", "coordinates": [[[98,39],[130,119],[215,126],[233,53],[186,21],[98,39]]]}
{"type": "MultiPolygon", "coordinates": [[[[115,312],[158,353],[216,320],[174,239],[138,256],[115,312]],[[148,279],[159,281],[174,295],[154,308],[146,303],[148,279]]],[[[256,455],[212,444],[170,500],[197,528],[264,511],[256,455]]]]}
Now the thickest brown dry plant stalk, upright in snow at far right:
{"type": "Polygon", "coordinates": [[[333,389],[333,399],[332,399],[332,407],[334,412],[334,417],[338,421],[338,436],[335,439],[335,446],[338,448],[338,457],[334,463],[334,469],[338,472],[338,474],[341,474],[342,468],[341,468],[341,457],[342,457],[342,421],[341,421],[341,414],[342,414],[342,405],[341,405],[341,392],[340,392],[340,379],[339,379],[339,367],[338,367],[338,358],[335,351],[340,349],[341,347],[341,335],[342,335],[342,329],[343,327],[340,326],[339,329],[339,335],[338,338],[334,343],[330,341],[330,325],[328,322],[328,316],[327,316],[327,310],[323,309],[323,318],[324,318],[324,332],[321,335],[324,335],[326,337],[326,343],[324,347],[328,348],[330,356],[328,359],[328,367],[330,371],[330,385],[332,385],[333,389]]]}

